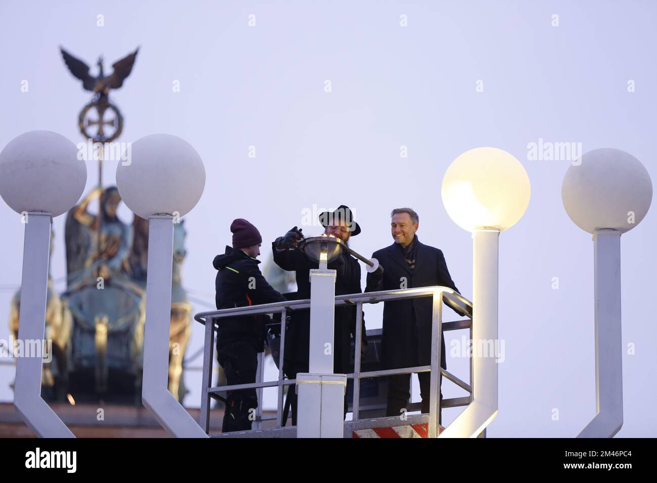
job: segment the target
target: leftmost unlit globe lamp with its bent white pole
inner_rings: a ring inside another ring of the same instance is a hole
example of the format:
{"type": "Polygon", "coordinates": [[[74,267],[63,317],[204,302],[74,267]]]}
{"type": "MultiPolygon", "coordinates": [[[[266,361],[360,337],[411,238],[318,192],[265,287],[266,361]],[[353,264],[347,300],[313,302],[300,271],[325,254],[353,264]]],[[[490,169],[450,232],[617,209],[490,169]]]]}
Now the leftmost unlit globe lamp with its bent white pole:
{"type": "MultiPolygon", "coordinates": [[[[84,191],[87,166],[66,137],[30,131],[0,152],[0,196],[25,223],[18,340],[45,344],[50,235],[53,217],[66,213],[84,191]]],[[[42,351],[43,352],[43,351],[42,351]]],[[[41,398],[43,354],[16,357],[14,407],[42,438],[73,438],[73,433],[41,398]]]]}

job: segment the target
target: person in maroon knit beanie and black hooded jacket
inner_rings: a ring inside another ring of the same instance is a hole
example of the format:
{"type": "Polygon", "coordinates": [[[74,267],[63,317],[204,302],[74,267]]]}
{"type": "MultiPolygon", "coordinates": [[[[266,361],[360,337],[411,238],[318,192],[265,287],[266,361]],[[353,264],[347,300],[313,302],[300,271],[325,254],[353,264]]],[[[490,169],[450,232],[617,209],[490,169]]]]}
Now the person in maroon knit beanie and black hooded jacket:
{"type": "MultiPolygon", "coordinates": [[[[233,248],[226,246],[223,255],[214,258],[217,278],[217,309],[246,307],[285,298],[271,288],[260,273],[256,257],[260,255],[262,237],[254,225],[238,218],[231,224],[233,248]]],[[[258,353],[263,351],[267,315],[248,315],[218,319],[217,358],[228,385],[256,382],[258,353]]],[[[223,415],[223,432],[250,430],[258,407],[255,389],[229,391],[223,415]]]]}

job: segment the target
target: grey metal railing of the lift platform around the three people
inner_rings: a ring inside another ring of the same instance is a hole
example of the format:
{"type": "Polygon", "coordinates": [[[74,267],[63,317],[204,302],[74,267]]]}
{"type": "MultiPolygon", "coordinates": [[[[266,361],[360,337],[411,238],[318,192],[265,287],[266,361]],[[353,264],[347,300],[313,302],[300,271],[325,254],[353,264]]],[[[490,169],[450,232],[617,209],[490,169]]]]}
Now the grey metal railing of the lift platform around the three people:
{"type": "MultiPolygon", "coordinates": [[[[472,358],[470,357],[470,384],[459,379],[455,375],[447,372],[440,367],[440,375],[445,379],[451,380],[470,395],[464,398],[452,398],[440,402],[440,377],[438,365],[441,359],[441,334],[443,331],[454,331],[459,329],[469,329],[470,340],[472,340],[472,302],[447,287],[419,287],[404,288],[399,290],[383,290],[380,292],[368,292],[364,294],[338,295],[335,297],[335,306],[356,306],[356,334],[355,334],[355,351],[354,351],[354,371],[347,375],[348,379],[353,379],[353,403],[352,403],[352,421],[345,421],[345,434],[351,434],[352,430],[361,428],[373,428],[382,426],[399,426],[399,416],[376,419],[359,419],[359,398],[360,398],[360,381],[371,377],[384,377],[390,375],[411,374],[420,372],[430,372],[430,402],[429,414],[427,415],[409,415],[401,423],[403,425],[428,422],[428,436],[434,438],[438,436],[438,412],[441,407],[466,406],[472,401],[472,358]],[[362,317],[363,304],[376,304],[378,302],[390,302],[393,300],[403,300],[408,298],[432,297],[432,330],[431,330],[431,364],[420,365],[417,367],[405,367],[401,369],[386,369],[383,371],[361,372],[361,340],[362,334],[362,317]],[[467,319],[445,322],[442,321],[443,302],[455,308],[468,317],[467,319]],[[427,421],[428,420],[428,421],[427,421]]],[[[258,408],[256,409],[256,428],[250,431],[237,433],[225,433],[222,436],[294,436],[296,426],[283,427],[283,388],[296,384],[296,379],[285,379],[283,373],[283,359],[285,353],[285,326],[286,313],[288,311],[309,310],[310,299],[305,300],[288,300],[286,302],[276,302],[274,304],[263,304],[258,306],[230,308],[215,311],[200,312],[194,315],[194,319],[205,325],[205,346],[203,353],[203,377],[202,377],[202,394],[201,410],[199,425],[208,433],[210,418],[210,400],[219,392],[226,390],[252,389],[258,390],[258,408]],[[212,365],[214,363],[214,336],[217,324],[225,317],[235,317],[237,315],[258,315],[265,313],[281,313],[281,347],[279,352],[279,377],[278,380],[263,382],[263,353],[258,354],[258,371],[256,382],[250,384],[234,384],[232,386],[212,387],[212,365]],[[208,323],[210,321],[210,323],[208,323]],[[262,419],[262,390],[263,388],[277,387],[277,414],[275,418],[262,419]],[[262,421],[271,419],[276,420],[275,428],[262,429],[262,421]]],[[[411,407],[409,407],[411,409],[411,407]]]]}

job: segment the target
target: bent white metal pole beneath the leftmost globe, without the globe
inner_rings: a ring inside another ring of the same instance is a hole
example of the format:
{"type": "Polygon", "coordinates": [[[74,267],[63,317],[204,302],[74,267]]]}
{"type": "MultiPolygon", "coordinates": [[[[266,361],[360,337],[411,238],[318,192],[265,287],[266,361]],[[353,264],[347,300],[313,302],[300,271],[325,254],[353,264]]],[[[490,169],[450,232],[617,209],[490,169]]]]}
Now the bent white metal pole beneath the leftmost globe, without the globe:
{"type": "Polygon", "coordinates": [[[74,438],[71,430],[41,398],[45,310],[50,259],[50,213],[28,212],[25,219],[23,276],[20,287],[18,342],[23,354],[16,357],[14,407],[25,424],[40,438],[74,438]],[[41,354],[27,354],[41,347],[41,354]]]}

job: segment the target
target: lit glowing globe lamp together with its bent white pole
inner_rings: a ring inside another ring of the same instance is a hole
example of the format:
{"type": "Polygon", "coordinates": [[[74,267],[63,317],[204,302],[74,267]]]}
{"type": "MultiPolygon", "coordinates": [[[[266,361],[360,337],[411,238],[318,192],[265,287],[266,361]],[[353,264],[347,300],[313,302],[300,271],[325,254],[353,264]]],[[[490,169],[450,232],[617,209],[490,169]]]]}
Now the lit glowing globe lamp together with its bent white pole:
{"type": "MultiPolygon", "coordinates": [[[[498,410],[498,371],[494,354],[480,354],[479,341],[497,341],[499,233],[522,218],[530,202],[530,180],[508,152],[471,149],[447,168],[442,184],[447,214],[472,233],[472,402],[440,434],[441,438],[474,438],[498,410]]],[[[487,345],[487,344],[486,344],[487,345]]]]}

